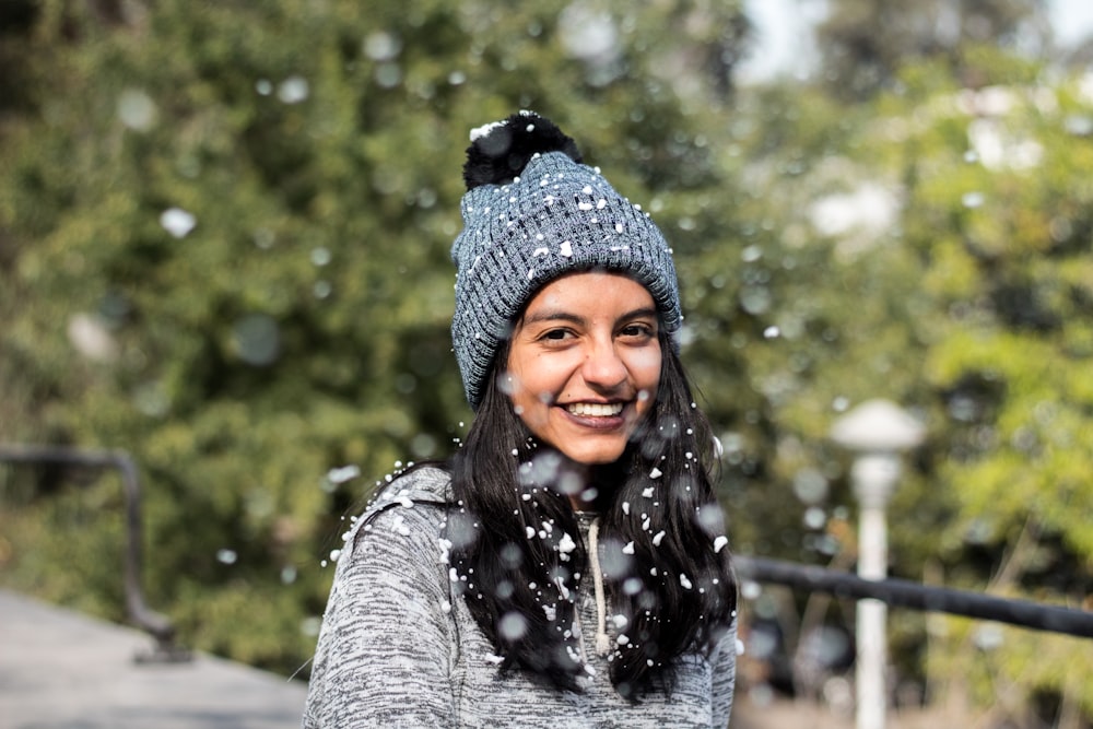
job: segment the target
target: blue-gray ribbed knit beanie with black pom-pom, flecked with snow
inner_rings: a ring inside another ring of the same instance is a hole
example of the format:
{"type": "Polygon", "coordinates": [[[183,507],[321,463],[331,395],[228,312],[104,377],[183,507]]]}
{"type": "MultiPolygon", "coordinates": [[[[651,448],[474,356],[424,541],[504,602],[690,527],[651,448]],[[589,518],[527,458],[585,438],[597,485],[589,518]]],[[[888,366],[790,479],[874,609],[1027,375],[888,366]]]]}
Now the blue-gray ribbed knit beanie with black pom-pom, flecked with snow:
{"type": "Polygon", "coordinates": [[[451,246],[451,341],[478,410],[517,315],[566,273],[624,273],[653,296],[672,345],[682,324],[672,251],[640,205],[581,164],[572,139],[533,111],[471,131],[463,166],[463,230],[451,246]]]}

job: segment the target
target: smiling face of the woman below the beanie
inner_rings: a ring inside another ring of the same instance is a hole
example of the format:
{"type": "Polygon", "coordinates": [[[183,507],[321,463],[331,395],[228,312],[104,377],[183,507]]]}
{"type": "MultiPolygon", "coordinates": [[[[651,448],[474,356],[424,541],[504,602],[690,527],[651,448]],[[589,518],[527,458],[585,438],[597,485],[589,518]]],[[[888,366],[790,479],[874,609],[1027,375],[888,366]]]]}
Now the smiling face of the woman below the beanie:
{"type": "Polygon", "coordinates": [[[543,287],[516,322],[502,385],[540,443],[587,466],[622,456],[660,381],[653,296],[618,273],[543,287]]]}

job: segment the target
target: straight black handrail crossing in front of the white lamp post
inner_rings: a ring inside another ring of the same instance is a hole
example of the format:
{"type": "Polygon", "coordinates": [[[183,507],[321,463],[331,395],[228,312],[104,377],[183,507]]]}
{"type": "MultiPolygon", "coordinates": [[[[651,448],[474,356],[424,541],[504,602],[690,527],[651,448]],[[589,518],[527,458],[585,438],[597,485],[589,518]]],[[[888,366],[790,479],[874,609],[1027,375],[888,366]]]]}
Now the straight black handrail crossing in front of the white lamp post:
{"type": "Polygon", "coordinates": [[[1093,612],[1084,610],[919,585],[906,579],[863,579],[825,567],[765,557],[734,556],[733,564],[739,577],[756,583],[786,585],[859,600],[871,598],[901,608],[947,612],[1093,638],[1093,612]]]}

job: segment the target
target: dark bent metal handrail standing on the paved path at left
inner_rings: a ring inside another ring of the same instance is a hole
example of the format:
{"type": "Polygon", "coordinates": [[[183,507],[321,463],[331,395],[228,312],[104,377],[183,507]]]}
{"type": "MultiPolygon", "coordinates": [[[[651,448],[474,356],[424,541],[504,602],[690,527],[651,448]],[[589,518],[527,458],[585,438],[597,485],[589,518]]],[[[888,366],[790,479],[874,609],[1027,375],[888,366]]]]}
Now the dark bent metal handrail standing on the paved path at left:
{"type": "Polygon", "coordinates": [[[126,503],[125,593],[126,611],[134,625],[156,640],[155,651],[138,660],[186,660],[189,652],[175,645],[171,620],[148,607],[141,581],[143,517],[137,463],[124,450],[89,450],[66,446],[0,444],[0,461],[10,463],[63,463],[91,468],[115,468],[121,474],[126,503]]]}

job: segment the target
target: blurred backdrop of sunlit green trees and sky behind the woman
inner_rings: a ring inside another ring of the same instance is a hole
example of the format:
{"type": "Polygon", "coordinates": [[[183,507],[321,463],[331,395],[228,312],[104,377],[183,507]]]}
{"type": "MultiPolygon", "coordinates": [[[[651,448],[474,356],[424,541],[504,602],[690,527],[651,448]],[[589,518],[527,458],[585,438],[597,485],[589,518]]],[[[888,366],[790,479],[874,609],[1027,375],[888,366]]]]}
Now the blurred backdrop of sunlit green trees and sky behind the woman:
{"type": "MultiPolygon", "coordinates": [[[[671,240],[739,554],[1093,609],[1083,0],[3,0],[0,443],[124,449],[179,642],[306,679],[346,515],[471,413],[468,130],[532,108],[671,240]]],[[[116,474],[0,465],[0,586],[122,621],[116,474]]],[[[744,585],[741,696],[846,707],[854,603],[744,585]]],[[[893,611],[898,707],[1093,725],[1088,642],[893,611]]],[[[853,699],[850,706],[853,707],[853,699]]]]}

